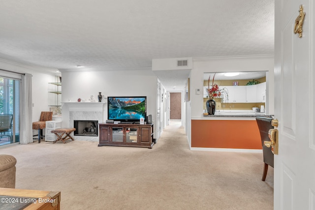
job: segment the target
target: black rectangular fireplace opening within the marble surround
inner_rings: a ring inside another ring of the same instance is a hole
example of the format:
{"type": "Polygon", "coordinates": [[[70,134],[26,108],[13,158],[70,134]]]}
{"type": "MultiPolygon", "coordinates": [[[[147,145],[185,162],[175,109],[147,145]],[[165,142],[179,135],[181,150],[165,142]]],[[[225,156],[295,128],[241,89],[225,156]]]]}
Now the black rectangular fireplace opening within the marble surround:
{"type": "Polygon", "coordinates": [[[74,120],[75,136],[98,136],[97,120],[74,120]]]}

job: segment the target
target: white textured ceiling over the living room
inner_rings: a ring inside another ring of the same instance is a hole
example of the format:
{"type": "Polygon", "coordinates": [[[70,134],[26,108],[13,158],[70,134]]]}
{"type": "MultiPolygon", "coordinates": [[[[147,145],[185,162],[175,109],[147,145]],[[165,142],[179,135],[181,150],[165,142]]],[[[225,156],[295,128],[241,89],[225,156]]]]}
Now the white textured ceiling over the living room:
{"type": "Polygon", "coordinates": [[[0,20],[1,60],[53,70],[274,54],[274,0],[1,0],[0,20]]]}

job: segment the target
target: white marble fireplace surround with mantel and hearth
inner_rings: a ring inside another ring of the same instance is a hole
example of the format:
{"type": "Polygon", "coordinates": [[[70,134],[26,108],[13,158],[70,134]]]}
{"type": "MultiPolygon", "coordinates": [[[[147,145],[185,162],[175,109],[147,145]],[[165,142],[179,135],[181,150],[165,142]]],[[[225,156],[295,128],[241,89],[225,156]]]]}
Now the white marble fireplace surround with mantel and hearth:
{"type": "MultiPolygon", "coordinates": [[[[68,116],[69,127],[74,127],[74,120],[97,120],[101,123],[104,121],[104,105],[104,102],[63,102],[66,108],[63,110],[67,112],[63,114],[68,116]]],[[[98,136],[75,136],[74,139],[98,142],[98,136]]]]}

